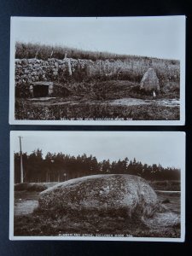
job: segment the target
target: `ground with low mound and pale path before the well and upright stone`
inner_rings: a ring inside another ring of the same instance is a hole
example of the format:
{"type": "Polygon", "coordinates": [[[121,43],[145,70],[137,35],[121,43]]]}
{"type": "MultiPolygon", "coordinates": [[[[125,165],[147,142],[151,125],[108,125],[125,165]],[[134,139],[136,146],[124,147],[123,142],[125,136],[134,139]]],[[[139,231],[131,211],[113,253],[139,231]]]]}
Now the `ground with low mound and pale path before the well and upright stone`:
{"type": "Polygon", "coordinates": [[[17,98],[15,119],[177,120],[180,116],[179,96],[174,88],[155,99],[142,95],[137,91],[138,84],[127,81],[81,83],[74,84],[74,88],[73,95],[67,97],[17,98]]]}

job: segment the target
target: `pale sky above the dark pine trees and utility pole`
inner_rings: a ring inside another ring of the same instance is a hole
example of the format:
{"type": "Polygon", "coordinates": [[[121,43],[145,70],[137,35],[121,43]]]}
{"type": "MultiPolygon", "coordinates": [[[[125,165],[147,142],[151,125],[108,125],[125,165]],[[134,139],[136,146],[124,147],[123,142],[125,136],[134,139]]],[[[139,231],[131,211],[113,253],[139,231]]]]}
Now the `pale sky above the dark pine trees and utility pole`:
{"type": "Polygon", "coordinates": [[[181,168],[185,159],[183,132],[133,131],[14,131],[12,152],[31,154],[35,149],[70,155],[92,154],[97,160],[123,160],[135,157],[142,163],[181,168]]]}

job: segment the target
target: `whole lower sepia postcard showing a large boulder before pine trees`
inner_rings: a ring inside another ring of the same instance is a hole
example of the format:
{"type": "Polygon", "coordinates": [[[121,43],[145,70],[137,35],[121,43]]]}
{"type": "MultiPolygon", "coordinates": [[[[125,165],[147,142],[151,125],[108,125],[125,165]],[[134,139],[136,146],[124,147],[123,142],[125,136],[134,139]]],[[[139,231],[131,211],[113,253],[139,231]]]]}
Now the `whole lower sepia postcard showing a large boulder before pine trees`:
{"type": "Polygon", "coordinates": [[[10,240],[184,236],[184,132],[11,131],[10,240]]]}

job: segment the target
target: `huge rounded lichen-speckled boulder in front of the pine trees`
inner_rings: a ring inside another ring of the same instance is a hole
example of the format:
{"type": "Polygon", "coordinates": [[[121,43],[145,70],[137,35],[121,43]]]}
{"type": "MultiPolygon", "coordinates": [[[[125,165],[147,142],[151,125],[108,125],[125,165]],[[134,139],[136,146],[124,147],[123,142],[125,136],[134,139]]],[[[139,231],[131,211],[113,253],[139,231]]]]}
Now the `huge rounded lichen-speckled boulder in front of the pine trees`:
{"type": "Polygon", "coordinates": [[[111,174],[80,177],[41,192],[39,208],[58,212],[126,212],[151,217],[159,203],[154,189],[142,178],[111,174]]]}

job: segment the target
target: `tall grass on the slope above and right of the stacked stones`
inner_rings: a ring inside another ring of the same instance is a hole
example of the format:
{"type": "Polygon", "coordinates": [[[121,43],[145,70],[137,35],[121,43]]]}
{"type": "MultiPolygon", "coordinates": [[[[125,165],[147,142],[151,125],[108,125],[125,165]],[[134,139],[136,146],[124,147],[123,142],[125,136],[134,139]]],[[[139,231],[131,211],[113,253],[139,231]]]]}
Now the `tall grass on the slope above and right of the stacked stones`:
{"type": "MultiPolygon", "coordinates": [[[[160,81],[160,87],[176,87],[180,83],[180,62],[176,60],[164,60],[136,55],[116,55],[107,52],[84,51],[66,47],[53,47],[41,44],[16,44],[15,58],[48,60],[50,57],[63,60],[67,57],[85,61],[85,64],[73,68],[73,75],[69,76],[67,69],[58,68],[58,75],[53,70],[48,70],[46,78],[49,81],[72,84],[73,82],[96,82],[110,80],[127,80],[132,83],[140,83],[143,74],[149,67],[154,68],[160,81]],[[52,55],[51,55],[52,53],[52,55]]],[[[25,61],[25,60],[24,60],[25,61]]],[[[22,72],[25,71],[24,70],[22,72]]],[[[21,72],[21,73],[22,73],[21,72]]],[[[20,72],[18,73],[20,77],[20,72]]],[[[42,76],[41,73],[40,76],[42,76]]],[[[41,80],[41,78],[39,78],[41,80]]],[[[19,85],[17,79],[15,84],[19,85]]],[[[179,86],[178,86],[179,87],[179,86]]]]}

